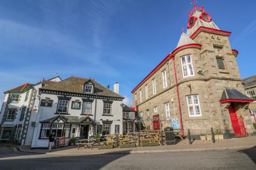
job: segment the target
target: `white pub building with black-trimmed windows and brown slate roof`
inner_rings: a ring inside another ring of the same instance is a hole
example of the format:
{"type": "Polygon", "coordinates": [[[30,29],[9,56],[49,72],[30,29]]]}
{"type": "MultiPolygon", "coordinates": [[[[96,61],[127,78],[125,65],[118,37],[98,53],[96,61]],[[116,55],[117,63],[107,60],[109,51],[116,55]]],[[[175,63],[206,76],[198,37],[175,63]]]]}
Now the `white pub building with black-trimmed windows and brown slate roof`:
{"type": "Polygon", "coordinates": [[[94,80],[69,77],[39,89],[40,104],[31,148],[48,147],[49,134],[88,139],[94,133],[101,136],[123,134],[123,96],[119,84],[114,92],[94,80]]]}

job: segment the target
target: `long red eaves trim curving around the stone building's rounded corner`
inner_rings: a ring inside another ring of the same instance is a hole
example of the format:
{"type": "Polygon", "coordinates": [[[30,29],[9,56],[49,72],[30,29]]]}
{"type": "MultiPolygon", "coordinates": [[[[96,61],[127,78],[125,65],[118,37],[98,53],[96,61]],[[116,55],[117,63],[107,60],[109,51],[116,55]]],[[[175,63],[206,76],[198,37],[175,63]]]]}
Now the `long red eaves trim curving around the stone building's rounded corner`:
{"type": "Polygon", "coordinates": [[[157,67],[155,67],[154,70],[152,70],[152,71],[147,75],[147,77],[145,77],[145,78],[132,90],[132,93],[135,92],[135,90],[138,89],[139,86],[142,85],[150,76],[152,76],[152,74],[155,73],[155,71],[157,71],[157,70],[159,69],[159,67],[162,66],[163,63],[165,63],[168,59],[170,59],[170,56],[171,56],[171,55],[174,55],[174,54],[176,54],[178,51],[180,51],[180,50],[182,50],[182,49],[189,48],[189,47],[201,48],[202,45],[194,43],[194,44],[187,44],[187,45],[184,45],[184,46],[180,46],[180,47],[174,49],[174,50],[172,51],[172,53],[168,54],[168,55],[165,57],[165,59],[163,59],[163,61],[161,61],[161,63],[159,63],[159,64],[157,65],[157,67]]]}

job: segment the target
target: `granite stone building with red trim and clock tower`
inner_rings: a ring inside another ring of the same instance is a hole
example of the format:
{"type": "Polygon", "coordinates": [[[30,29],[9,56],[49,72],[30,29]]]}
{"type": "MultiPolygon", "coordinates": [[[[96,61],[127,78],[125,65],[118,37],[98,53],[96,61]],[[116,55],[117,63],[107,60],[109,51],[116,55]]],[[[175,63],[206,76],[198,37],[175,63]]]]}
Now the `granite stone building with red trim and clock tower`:
{"type": "Polygon", "coordinates": [[[133,105],[144,124],[167,126],[194,138],[221,132],[225,138],[254,135],[249,103],[231,48],[231,32],[221,30],[204,7],[194,3],[187,33],[133,90],[133,105]]]}

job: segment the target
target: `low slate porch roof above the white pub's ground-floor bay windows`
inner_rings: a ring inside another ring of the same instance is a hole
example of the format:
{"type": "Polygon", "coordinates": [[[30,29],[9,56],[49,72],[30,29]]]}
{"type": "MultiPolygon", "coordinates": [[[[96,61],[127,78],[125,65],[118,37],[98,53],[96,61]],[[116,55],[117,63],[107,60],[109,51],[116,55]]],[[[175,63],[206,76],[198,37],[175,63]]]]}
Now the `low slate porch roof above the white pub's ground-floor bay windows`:
{"type": "Polygon", "coordinates": [[[46,119],[46,120],[42,120],[42,121],[40,121],[40,123],[51,123],[55,119],[57,119],[58,117],[60,117],[62,120],[64,120],[64,123],[80,123],[80,122],[82,122],[85,119],[89,119],[89,120],[91,120],[92,122],[95,123],[95,121],[93,119],[91,119],[90,117],[61,116],[61,115],[54,116],[54,117],[51,117],[51,118],[46,119]]]}

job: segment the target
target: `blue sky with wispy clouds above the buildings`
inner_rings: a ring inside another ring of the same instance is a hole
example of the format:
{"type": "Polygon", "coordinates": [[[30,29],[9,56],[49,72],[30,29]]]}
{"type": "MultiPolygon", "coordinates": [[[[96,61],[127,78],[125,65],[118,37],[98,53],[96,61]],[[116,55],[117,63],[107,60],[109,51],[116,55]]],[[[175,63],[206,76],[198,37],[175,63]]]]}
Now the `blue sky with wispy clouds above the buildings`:
{"type": "MultiPolygon", "coordinates": [[[[231,31],[242,78],[256,74],[256,1],[197,0],[231,31]]],[[[1,0],[0,92],[55,73],[131,90],[175,49],[192,0],[1,0]]],[[[4,94],[0,94],[0,101],[4,94]]],[[[130,101],[129,101],[130,98],[130,101]]]]}

